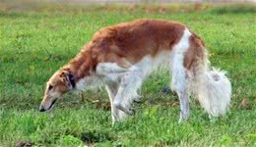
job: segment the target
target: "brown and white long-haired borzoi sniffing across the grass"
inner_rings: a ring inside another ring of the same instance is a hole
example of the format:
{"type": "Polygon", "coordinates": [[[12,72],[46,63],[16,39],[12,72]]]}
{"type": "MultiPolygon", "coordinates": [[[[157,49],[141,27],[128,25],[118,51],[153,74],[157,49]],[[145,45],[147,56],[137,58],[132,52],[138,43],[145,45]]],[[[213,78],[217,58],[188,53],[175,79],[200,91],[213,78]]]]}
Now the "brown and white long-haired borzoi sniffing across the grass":
{"type": "Polygon", "coordinates": [[[210,118],[224,115],[231,97],[226,72],[212,69],[204,41],[172,21],[136,20],[103,27],[81,52],[47,81],[39,111],[53,107],[64,93],[105,85],[112,122],[134,114],[142,83],[164,67],[180,102],[179,123],[189,118],[189,96],[196,95],[210,118]]]}

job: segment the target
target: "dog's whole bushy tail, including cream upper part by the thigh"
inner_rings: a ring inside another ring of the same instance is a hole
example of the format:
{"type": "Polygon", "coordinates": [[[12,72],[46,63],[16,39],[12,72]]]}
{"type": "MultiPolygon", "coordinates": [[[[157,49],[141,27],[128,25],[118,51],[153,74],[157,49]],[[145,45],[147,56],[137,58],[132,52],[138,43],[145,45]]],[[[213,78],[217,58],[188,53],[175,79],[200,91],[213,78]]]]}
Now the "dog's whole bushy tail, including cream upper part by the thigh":
{"type": "MultiPolygon", "coordinates": [[[[205,57],[207,58],[207,56],[205,57]]],[[[201,106],[207,111],[210,118],[224,115],[228,109],[231,97],[231,84],[226,72],[209,70],[207,60],[195,65],[190,90],[198,95],[201,106]]]]}

